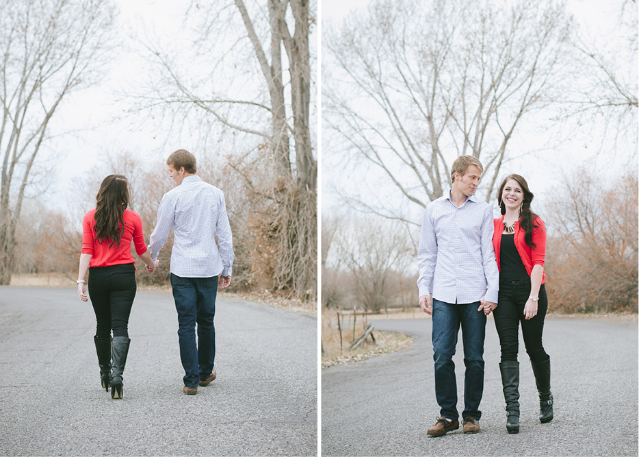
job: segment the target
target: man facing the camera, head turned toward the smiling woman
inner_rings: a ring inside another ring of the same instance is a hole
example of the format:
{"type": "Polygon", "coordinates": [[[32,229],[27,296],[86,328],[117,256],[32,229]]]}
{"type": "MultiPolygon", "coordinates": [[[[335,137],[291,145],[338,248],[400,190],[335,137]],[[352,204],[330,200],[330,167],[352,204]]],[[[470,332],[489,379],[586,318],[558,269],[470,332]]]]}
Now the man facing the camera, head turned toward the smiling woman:
{"type": "Polygon", "coordinates": [[[497,307],[499,295],[493,210],[474,197],[483,171],[477,158],[457,158],[451,169],[452,189],[426,207],[421,225],[419,306],[432,316],[435,395],[441,408],[441,417],[428,429],[431,436],[459,428],[452,356],[460,325],[466,365],[464,433],[480,431],[486,315],[497,307]]]}

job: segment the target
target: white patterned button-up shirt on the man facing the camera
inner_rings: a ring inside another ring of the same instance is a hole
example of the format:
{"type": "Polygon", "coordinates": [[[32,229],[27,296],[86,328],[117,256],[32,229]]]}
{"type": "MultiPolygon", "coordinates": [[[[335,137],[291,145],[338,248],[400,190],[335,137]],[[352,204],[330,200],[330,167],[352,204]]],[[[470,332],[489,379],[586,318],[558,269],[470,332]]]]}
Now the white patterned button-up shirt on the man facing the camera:
{"type": "Polygon", "coordinates": [[[419,296],[449,304],[497,303],[499,271],[493,247],[493,210],[474,195],[457,208],[450,193],[426,206],[417,262],[419,296]]]}

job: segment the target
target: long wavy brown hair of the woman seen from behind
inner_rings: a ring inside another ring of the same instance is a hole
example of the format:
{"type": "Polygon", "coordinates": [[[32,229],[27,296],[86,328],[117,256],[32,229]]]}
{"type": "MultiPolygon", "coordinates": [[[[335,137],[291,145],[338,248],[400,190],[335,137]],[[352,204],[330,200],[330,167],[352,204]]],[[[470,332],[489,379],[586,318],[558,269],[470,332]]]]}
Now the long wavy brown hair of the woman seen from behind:
{"type": "Polygon", "coordinates": [[[95,197],[96,241],[118,245],[125,230],[124,214],[129,206],[129,181],[122,175],[108,175],[95,197]]]}

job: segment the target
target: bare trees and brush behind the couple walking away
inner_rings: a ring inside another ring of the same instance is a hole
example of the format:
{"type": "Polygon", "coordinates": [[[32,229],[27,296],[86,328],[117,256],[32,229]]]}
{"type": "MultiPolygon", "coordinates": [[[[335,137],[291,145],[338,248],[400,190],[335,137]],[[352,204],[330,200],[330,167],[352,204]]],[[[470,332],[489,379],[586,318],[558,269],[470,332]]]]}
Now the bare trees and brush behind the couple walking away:
{"type": "MultiPolygon", "coordinates": [[[[317,290],[316,114],[311,110],[316,97],[309,47],[316,9],[316,2],[306,0],[193,3],[184,16],[187,47],[174,49],[143,32],[135,45],[129,43],[143,62],[141,81],[120,94],[128,103],[129,122],[155,123],[160,130],[168,123],[167,137],[199,134],[192,140],[201,151],[199,174],[231,196],[226,201],[233,206],[237,287],[266,287],[302,299],[317,290]],[[220,29],[232,39],[216,40],[211,31],[220,29]],[[245,84],[237,84],[241,80],[245,84]],[[231,138],[233,152],[211,152],[211,136],[231,138]],[[216,162],[207,166],[207,160],[216,162]]],[[[15,271],[69,271],[71,245],[79,252],[77,214],[45,208],[44,214],[33,210],[32,219],[23,211],[29,197],[50,182],[42,150],[55,148],[51,138],[62,134],[51,129],[58,106],[70,94],[99,84],[109,62],[125,51],[117,16],[112,0],[0,5],[0,284],[9,284],[15,271]],[[54,240],[55,234],[60,239],[54,240]],[[53,264],[38,259],[27,242],[40,238],[40,247],[56,259],[53,264]]],[[[49,158],[62,153],[49,152],[49,158]]],[[[77,183],[78,195],[94,196],[107,170],[127,175],[131,208],[140,212],[145,235],[150,234],[157,203],[169,188],[164,170],[141,168],[126,150],[109,160],[88,182],[77,183]],[[142,186],[143,180],[157,186],[142,186]]],[[[81,208],[92,207],[83,203],[81,208]]],[[[169,254],[163,251],[162,257],[169,254]]],[[[166,280],[167,259],[161,274],[148,281],[166,280]]]]}

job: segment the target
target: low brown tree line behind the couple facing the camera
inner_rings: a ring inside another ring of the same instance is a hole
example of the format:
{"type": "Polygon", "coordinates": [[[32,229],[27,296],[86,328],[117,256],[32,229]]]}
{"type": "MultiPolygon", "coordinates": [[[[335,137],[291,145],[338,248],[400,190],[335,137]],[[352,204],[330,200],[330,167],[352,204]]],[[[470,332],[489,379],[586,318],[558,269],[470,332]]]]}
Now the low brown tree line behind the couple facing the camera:
{"type": "MultiPolygon", "coordinates": [[[[549,311],[639,311],[638,189],[634,169],[605,185],[584,168],[546,201],[536,199],[533,210],[547,227],[549,311]]],[[[376,312],[417,306],[415,236],[375,215],[324,219],[322,306],[376,312]]]]}

